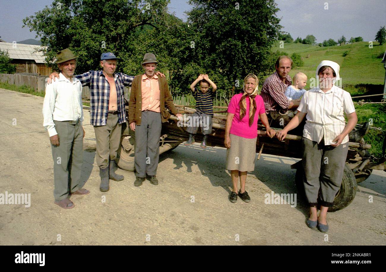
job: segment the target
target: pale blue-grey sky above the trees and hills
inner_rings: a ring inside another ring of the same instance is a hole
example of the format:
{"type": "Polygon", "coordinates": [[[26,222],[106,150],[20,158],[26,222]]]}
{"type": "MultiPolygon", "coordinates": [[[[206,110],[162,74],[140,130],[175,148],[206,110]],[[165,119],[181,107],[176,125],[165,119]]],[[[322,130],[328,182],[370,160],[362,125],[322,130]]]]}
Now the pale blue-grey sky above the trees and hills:
{"type": "MultiPolygon", "coordinates": [[[[242,0],[240,10],[242,10],[242,0]]],[[[12,42],[35,39],[35,33],[22,28],[22,20],[51,5],[52,0],[0,0],[0,36],[12,42]]],[[[313,34],[317,42],[325,39],[337,40],[342,35],[347,39],[361,36],[364,41],[373,41],[378,29],[386,25],[386,0],[276,0],[283,30],[295,39],[313,34]],[[328,3],[328,9],[327,5],[328,3]]],[[[185,0],[171,0],[169,12],[186,20],[185,11],[191,6],[185,0]]],[[[248,7],[248,12],[253,11],[248,7]]]]}

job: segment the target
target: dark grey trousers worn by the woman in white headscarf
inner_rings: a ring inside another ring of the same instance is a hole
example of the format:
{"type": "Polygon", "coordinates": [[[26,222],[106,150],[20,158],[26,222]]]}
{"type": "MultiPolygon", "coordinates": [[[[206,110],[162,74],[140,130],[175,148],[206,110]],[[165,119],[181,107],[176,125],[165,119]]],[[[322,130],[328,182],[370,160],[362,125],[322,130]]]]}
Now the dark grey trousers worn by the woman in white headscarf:
{"type": "Polygon", "coordinates": [[[303,184],[310,207],[318,204],[319,188],[322,191],[320,204],[331,207],[342,184],[349,143],[337,147],[318,144],[303,137],[303,184]]]}

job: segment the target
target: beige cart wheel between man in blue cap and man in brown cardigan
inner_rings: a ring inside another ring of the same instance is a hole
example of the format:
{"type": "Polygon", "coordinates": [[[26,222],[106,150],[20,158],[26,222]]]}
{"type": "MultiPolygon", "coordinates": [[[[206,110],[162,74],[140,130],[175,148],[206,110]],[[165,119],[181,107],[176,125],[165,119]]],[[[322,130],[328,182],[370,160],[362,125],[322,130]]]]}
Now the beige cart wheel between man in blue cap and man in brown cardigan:
{"type": "Polygon", "coordinates": [[[129,127],[122,127],[121,145],[118,149],[117,165],[119,168],[126,171],[134,171],[134,145],[135,136],[134,133],[129,132],[129,127]]]}

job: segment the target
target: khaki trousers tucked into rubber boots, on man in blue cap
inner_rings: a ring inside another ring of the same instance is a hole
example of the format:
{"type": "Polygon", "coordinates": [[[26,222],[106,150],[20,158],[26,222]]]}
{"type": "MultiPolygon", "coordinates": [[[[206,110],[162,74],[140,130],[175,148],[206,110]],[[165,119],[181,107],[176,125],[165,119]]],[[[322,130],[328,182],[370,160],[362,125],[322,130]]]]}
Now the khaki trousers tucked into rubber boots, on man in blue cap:
{"type": "Polygon", "coordinates": [[[97,154],[95,154],[98,167],[108,167],[109,159],[117,158],[119,149],[122,124],[118,123],[118,115],[108,113],[107,122],[104,126],[94,126],[95,139],[97,139],[97,154]]]}

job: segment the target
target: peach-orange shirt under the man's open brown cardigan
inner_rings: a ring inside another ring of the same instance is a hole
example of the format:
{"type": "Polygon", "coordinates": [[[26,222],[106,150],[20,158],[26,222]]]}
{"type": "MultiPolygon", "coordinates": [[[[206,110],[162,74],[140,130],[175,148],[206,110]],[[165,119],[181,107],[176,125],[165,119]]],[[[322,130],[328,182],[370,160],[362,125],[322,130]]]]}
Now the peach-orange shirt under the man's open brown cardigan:
{"type": "Polygon", "coordinates": [[[152,112],[161,112],[159,108],[158,77],[155,74],[151,79],[149,79],[146,74],[142,75],[141,92],[142,111],[151,110],[152,112]]]}

